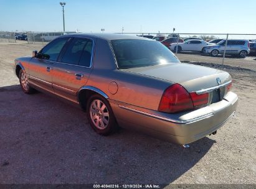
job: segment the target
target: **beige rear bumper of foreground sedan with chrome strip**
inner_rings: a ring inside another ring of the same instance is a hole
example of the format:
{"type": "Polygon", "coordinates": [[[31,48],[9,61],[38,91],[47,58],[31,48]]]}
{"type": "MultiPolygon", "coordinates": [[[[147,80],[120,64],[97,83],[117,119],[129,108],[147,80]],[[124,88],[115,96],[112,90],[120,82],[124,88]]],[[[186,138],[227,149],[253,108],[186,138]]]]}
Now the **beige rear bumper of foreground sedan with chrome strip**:
{"type": "Polygon", "coordinates": [[[237,102],[237,94],[229,92],[222,101],[205,108],[166,114],[110,100],[121,127],[177,144],[189,144],[219,129],[235,113],[237,102]]]}

